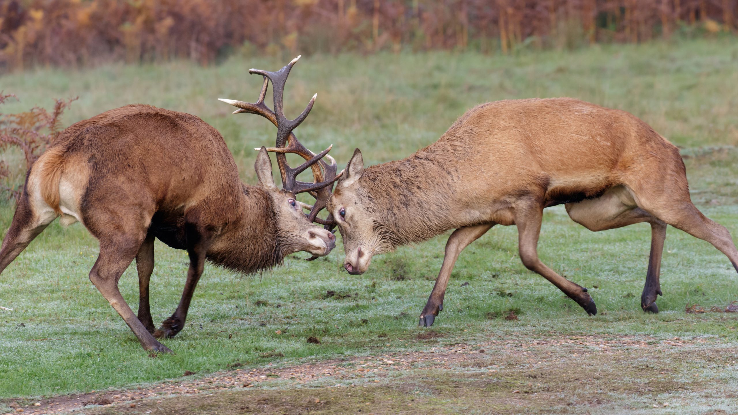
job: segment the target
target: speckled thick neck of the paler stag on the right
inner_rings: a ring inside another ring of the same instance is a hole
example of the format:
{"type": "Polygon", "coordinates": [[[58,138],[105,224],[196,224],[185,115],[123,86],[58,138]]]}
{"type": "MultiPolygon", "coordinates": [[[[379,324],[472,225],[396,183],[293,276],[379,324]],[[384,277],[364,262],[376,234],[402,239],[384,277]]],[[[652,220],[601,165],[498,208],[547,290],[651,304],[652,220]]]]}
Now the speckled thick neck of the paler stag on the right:
{"type": "Polygon", "coordinates": [[[392,247],[467,225],[458,215],[463,202],[454,196],[463,188],[458,166],[435,145],[404,160],[371,166],[359,182],[365,192],[359,197],[375,210],[383,239],[392,247]]]}

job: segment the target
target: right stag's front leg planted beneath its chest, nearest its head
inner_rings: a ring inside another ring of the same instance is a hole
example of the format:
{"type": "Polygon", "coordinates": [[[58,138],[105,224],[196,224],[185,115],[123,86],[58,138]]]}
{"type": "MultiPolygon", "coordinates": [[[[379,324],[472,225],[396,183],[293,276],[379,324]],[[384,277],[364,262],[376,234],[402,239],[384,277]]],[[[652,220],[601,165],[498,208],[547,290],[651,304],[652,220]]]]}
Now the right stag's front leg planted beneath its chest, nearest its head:
{"type": "Polygon", "coordinates": [[[433,286],[428,302],[420,314],[418,326],[430,327],[433,325],[435,316],[444,309],[444,295],[446,295],[446,287],[449,285],[449,277],[454,269],[456,259],[464,248],[484,235],[492,226],[494,226],[494,223],[460,227],[449,236],[449,240],[446,242],[444,264],[441,265],[441,272],[438,272],[435,286],[433,286]]]}

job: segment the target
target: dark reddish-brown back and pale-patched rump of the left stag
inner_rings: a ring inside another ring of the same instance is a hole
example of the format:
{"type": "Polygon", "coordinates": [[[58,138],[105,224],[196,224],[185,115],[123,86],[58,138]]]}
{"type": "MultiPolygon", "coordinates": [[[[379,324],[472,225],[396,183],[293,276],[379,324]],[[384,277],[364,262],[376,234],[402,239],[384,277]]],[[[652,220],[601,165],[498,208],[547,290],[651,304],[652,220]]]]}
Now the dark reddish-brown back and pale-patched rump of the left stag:
{"type": "Polygon", "coordinates": [[[231,195],[241,182],[215,128],[191,114],[136,104],[63,131],[32,167],[28,187],[32,198],[38,188],[37,199],[80,220],[80,208],[97,195],[153,203],[156,210],[182,210],[206,199],[233,209],[238,198],[231,195]]]}

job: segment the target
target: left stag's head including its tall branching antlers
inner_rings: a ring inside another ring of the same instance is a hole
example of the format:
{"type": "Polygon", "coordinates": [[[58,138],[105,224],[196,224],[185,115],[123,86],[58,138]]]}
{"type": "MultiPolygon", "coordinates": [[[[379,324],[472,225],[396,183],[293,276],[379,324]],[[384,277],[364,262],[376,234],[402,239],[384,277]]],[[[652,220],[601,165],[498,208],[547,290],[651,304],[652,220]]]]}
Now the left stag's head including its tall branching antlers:
{"type": "Polygon", "coordinates": [[[290,69],[292,69],[292,66],[299,58],[300,56],[294,58],[292,62],[277,72],[249,69],[250,74],[262,75],[264,78],[261,94],[256,103],[246,103],[244,101],[222,98],[220,100],[238,107],[233,114],[242,112],[258,114],[277,126],[277,145],[272,148],[256,148],[256,150],[259,150],[259,155],[254,167],[259,178],[259,184],[272,198],[272,209],[277,219],[277,230],[280,236],[283,254],[288,255],[290,253],[306,251],[313,255],[310,259],[314,259],[319,256],[328,255],[336,246],[336,237],[331,232],[334,226],[333,219],[330,215],[328,215],[327,219],[320,219],[317,215],[331,197],[333,184],[340,175],[336,174],[336,161],[333,157],[328,156],[328,151],[331,151],[332,145],[328,146],[328,148],[319,154],[314,154],[302,145],[292,133],[292,130],[297,128],[310,113],[317,94],[312,97],[302,114],[294,120],[289,120],[284,115],[282,106],[284,84],[289,76],[290,69]],[[272,91],[274,92],[274,111],[269,109],[264,103],[266,89],[269,86],[270,80],[272,81],[272,91]],[[272,161],[269,159],[267,151],[276,154],[277,165],[282,176],[281,189],[277,188],[272,177],[272,161]],[[287,153],[297,154],[306,161],[292,168],[287,164],[287,153]],[[324,158],[328,159],[328,162],[325,162],[324,158]],[[300,182],[297,180],[297,175],[306,171],[308,168],[312,170],[314,181],[300,182]],[[314,205],[297,201],[298,193],[310,193],[315,198],[314,205]],[[303,209],[309,210],[309,213],[303,213],[303,209]],[[323,224],[324,227],[314,225],[313,222],[323,224]]]}

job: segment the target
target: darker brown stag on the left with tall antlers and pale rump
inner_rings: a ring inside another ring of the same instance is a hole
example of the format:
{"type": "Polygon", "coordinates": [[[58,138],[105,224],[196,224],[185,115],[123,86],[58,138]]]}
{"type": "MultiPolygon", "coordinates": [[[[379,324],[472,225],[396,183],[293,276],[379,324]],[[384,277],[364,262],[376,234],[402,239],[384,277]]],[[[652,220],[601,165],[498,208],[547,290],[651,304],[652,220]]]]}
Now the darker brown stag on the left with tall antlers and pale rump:
{"type": "MultiPolygon", "coordinates": [[[[168,352],[154,333],[171,337],[182,330],[206,259],[252,273],[281,264],[286,255],[302,250],[328,255],[335,236],[308,218],[314,219],[330,196],[336,163],[326,156],[330,147],[315,155],[292,134],[310,112],[314,97],[295,120],[284,117],[282,89],[293,64],[275,72],[277,111],[271,120],[277,126],[277,146],[290,141],[289,148],[280,151],[299,154],[307,161],[297,168],[280,162],[282,190],[275,186],[266,148],[261,148],[255,163],[259,185],[246,185],[238,178],[223,137],[203,120],[153,106],[123,106],[70,126],[30,168],[2,241],[0,272],[57,217],[61,216],[62,224],[82,222],[100,241],[100,255],[89,273],[92,284],[144,349],[168,352]],[[312,168],[316,182],[295,180],[307,168],[312,168]],[[318,196],[309,216],[296,201],[300,192],[318,196]],[[148,302],[154,238],[187,250],[190,258],[179,306],[156,331],[148,302]],[[139,273],[138,316],[117,286],[134,258],[139,273]]],[[[260,101],[266,86],[265,79],[260,101]]]]}

